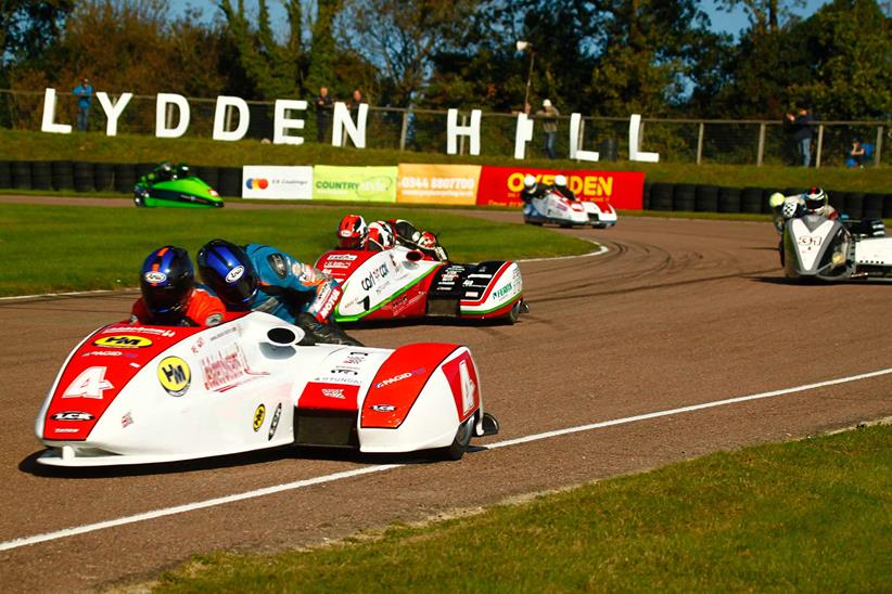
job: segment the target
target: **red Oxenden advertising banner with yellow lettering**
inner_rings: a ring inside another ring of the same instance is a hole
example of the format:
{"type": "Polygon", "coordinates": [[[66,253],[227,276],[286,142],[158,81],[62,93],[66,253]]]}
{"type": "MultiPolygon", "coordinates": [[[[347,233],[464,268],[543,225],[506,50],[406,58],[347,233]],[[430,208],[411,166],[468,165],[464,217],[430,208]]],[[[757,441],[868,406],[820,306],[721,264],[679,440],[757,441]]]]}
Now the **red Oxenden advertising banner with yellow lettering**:
{"type": "Polygon", "coordinates": [[[613,208],[640,210],[645,190],[643,171],[587,171],[561,169],[534,169],[531,167],[484,166],[480,176],[477,204],[520,205],[523,178],[532,173],[546,184],[553,183],[555,176],[566,176],[568,185],[583,201],[609,202],[613,208]]]}

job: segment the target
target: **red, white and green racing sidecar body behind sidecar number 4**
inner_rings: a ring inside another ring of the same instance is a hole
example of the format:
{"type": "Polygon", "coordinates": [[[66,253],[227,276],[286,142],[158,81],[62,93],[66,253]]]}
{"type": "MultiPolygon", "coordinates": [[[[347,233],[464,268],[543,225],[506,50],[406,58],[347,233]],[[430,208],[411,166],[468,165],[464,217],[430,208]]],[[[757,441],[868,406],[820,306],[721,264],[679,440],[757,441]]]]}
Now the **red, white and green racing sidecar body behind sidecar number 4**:
{"type": "Polygon", "coordinates": [[[334,249],[316,268],[344,292],[336,322],[455,318],[514,323],[526,311],[523,279],[513,261],[439,261],[403,245],[371,251],[334,249]]]}

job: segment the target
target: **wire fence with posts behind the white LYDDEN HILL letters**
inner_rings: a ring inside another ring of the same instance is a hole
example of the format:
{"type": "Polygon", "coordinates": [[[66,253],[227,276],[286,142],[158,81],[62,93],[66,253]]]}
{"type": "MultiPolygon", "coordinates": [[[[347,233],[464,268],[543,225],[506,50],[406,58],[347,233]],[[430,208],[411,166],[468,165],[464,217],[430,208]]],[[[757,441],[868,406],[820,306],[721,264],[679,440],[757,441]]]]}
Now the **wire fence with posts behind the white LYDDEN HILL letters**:
{"type": "MultiPolygon", "coordinates": [[[[71,93],[58,93],[55,120],[74,124],[77,99],[71,93]]],[[[113,101],[116,98],[112,96],[113,101]]],[[[190,125],[188,137],[211,138],[216,106],[215,99],[188,98],[190,125]]],[[[105,130],[105,113],[93,100],[89,129],[105,130]]],[[[271,139],[273,102],[249,101],[251,122],[246,138],[271,139]]],[[[118,120],[118,133],[154,134],[155,95],[135,95],[118,120]]],[[[21,130],[40,130],[43,114],[42,91],[10,91],[0,89],[0,127],[21,130]]],[[[460,115],[467,125],[469,113],[460,115]]],[[[176,119],[171,109],[168,120],[176,119]]],[[[293,116],[296,117],[296,116],[293,116]]],[[[238,122],[233,109],[227,114],[227,129],[238,122]]],[[[310,104],[302,132],[306,142],[316,142],[317,121],[310,104]]],[[[170,121],[168,121],[168,125],[170,121]]],[[[483,113],[481,124],[481,154],[512,156],[517,116],[504,113],[483,113]]],[[[570,118],[559,118],[557,153],[569,156],[570,118]]],[[[628,156],[628,119],[584,117],[583,141],[578,146],[598,151],[601,160],[617,160],[628,156]]],[[[291,132],[295,133],[295,132],[291,132]]],[[[331,131],[324,138],[330,142],[331,131]]],[[[421,153],[446,152],[446,112],[405,109],[393,107],[369,108],[367,147],[411,151],[421,153]]],[[[541,157],[543,132],[536,127],[527,155],[541,157]]],[[[815,167],[845,166],[854,139],[868,145],[870,156],[866,167],[892,165],[892,121],[818,121],[812,142],[812,165],[815,167]]],[[[800,165],[795,143],[780,120],[715,120],[642,118],[640,150],[657,152],[663,163],[729,164],[729,165],[800,165]]],[[[469,143],[461,137],[459,152],[467,154],[469,143]]]]}

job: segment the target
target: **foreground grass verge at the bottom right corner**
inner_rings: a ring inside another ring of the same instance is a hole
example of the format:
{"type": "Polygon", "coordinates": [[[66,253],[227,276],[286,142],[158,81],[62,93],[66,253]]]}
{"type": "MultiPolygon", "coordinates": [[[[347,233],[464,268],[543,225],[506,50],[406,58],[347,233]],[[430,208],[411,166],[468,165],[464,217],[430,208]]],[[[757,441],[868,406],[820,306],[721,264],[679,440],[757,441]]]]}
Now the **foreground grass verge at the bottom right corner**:
{"type": "Polygon", "coordinates": [[[154,585],[880,592],[892,583],[891,493],[892,427],[876,426],[717,453],[473,517],[393,526],[379,538],[270,556],[196,556],[154,585]]]}

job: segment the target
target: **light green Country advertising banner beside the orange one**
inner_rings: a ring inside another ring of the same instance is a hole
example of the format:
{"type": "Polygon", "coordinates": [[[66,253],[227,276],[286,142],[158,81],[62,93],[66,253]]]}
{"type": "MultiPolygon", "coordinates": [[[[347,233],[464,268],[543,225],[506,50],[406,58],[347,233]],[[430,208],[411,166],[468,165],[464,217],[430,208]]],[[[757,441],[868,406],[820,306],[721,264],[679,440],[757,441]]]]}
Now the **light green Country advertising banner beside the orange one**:
{"type": "Polygon", "coordinates": [[[313,169],[313,199],[396,202],[396,167],[339,167],[313,169]]]}

